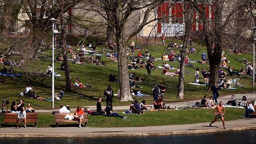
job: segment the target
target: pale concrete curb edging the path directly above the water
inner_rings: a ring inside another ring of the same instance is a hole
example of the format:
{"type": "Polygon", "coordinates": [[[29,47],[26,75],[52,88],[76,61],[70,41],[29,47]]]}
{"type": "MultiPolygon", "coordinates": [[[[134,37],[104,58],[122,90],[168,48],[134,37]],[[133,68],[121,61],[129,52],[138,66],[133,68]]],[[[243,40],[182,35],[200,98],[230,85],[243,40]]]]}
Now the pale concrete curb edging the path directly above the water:
{"type": "Polygon", "coordinates": [[[209,130],[191,130],[191,131],[169,131],[169,132],[137,132],[137,133],[0,133],[0,138],[67,138],[67,137],[115,137],[115,136],[161,136],[161,135],[175,135],[175,134],[196,134],[196,133],[213,133],[213,132],[227,132],[239,130],[256,129],[256,126],[250,127],[236,127],[227,129],[209,129],[209,130]]]}

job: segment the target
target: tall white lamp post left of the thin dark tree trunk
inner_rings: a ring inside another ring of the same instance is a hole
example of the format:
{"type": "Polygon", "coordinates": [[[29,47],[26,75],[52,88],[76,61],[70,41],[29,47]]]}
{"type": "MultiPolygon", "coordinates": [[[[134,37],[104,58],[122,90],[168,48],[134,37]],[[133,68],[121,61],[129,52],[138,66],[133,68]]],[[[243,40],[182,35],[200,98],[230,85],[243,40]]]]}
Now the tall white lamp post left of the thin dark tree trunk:
{"type": "Polygon", "coordinates": [[[54,23],[57,19],[52,18],[49,20],[52,23],[53,27],[53,58],[52,58],[52,109],[54,109],[54,23]]]}

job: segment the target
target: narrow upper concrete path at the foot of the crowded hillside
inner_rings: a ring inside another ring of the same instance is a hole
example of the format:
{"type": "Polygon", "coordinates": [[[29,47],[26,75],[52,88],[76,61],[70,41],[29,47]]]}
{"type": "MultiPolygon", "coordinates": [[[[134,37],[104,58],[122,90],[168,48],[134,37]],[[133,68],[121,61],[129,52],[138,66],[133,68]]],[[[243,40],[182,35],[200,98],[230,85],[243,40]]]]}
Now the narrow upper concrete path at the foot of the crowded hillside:
{"type": "MultiPolygon", "coordinates": [[[[254,91],[254,92],[247,92],[247,93],[238,93],[238,94],[235,95],[235,97],[237,98],[238,102],[242,100],[243,96],[246,96],[246,98],[248,100],[256,100],[256,91],[254,91]]],[[[227,99],[230,99],[230,98],[231,98],[231,94],[227,95],[227,96],[218,97],[218,102],[223,101],[223,103],[225,104],[227,99]]],[[[209,99],[209,98],[207,98],[207,99],[209,99]]],[[[185,101],[185,102],[167,103],[166,106],[169,105],[170,107],[175,107],[175,106],[182,107],[182,106],[187,106],[187,104],[195,105],[197,101],[201,102],[201,99],[200,100],[193,100],[193,101],[185,101]]],[[[102,104],[104,105],[105,103],[102,102],[102,104]]],[[[102,105],[102,108],[105,107],[103,105],[102,105]]],[[[151,106],[153,106],[153,105],[151,104],[151,106]]],[[[95,105],[93,105],[93,106],[86,106],[86,107],[88,109],[90,109],[90,110],[96,110],[96,102],[95,102],[95,105]]],[[[126,106],[114,106],[113,107],[113,110],[129,110],[129,109],[130,109],[129,105],[126,105],[126,106]]],[[[53,111],[58,111],[58,110],[59,109],[55,109],[55,110],[36,110],[36,112],[53,112],[53,111]]],[[[71,111],[74,112],[75,109],[71,109],[71,111]]]]}

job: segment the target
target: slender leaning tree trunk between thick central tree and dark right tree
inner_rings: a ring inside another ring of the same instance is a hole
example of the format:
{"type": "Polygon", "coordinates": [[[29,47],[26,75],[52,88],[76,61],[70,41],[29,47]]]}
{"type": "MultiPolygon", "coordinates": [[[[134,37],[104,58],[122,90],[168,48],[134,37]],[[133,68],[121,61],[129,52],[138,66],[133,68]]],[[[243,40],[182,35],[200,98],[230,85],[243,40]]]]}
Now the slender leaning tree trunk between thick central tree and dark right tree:
{"type": "MultiPolygon", "coordinates": [[[[186,5],[185,2],[184,2],[184,5],[186,5]]],[[[188,7],[184,6],[184,9],[185,9],[185,11],[184,11],[185,34],[183,37],[183,47],[181,49],[181,63],[180,63],[178,94],[177,94],[177,98],[179,98],[179,99],[184,99],[185,54],[186,54],[187,40],[189,37],[190,27],[191,27],[191,18],[193,17],[190,4],[188,7]]]]}

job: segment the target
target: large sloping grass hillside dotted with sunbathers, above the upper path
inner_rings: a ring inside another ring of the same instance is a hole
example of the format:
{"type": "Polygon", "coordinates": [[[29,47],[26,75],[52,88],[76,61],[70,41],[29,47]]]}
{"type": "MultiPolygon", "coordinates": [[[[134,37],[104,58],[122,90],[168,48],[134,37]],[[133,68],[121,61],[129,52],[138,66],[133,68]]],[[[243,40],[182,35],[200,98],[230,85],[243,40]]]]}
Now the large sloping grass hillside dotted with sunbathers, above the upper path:
{"type": "MultiPolygon", "coordinates": [[[[170,41],[167,41],[166,43],[169,43],[170,41]]],[[[180,43],[181,41],[178,41],[180,43]]],[[[155,58],[161,58],[162,53],[165,53],[164,46],[142,46],[144,49],[148,49],[148,51],[155,57],[155,58]]],[[[75,48],[75,46],[73,46],[75,48]]],[[[101,51],[101,48],[105,48],[104,46],[99,46],[99,51],[101,51]]],[[[190,48],[190,46],[188,47],[190,48]]],[[[189,54],[189,58],[191,60],[200,60],[202,51],[206,51],[205,46],[197,46],[196,48],[196,54],[189,54]]],[[[179,51],[179,49],[175,49],[176,52],[179,51]]],[[[135,52],[135,55],[137,56],[139,51],[135,52]]],[[[143,53],[145,50],[143,51],[143,53]]],[[[55,54],[61,53],[60,49],[57,49],[55,54]]],[[[37,60],[36,63],[38,64],[38,67],[41,68],[41,71],[44,73],[45,69],[48,67],[49,64],[51,64],[51,51],[46,51],[46,54],[40,54],[41,60],[37,60]]],[[[234,60],[234,57],[241,59],[241,58],[247,58],[249,61],[252,62],[252,55],[248,53],[244,53],[242,55],[236,55],[236,54],[230,54],[226,51],[227,59],[231,61],[231,63],[228,63],[228,66],[234,67],[235,71],[240,71],[241,67],[245,67],[241,62],[238,62],[234,60]]],[[[55,57],[56,57],[55,56],[55,57]]],[[[71,57],[71,55],[69,55],[71,57]]],[[[111,84],[112,89],[114,90],[114,93],[117,93],[119,89],[118,83],[109,82],[108,78],[111,72],[114,72],[115,75],[118,75],[118,68],[117,68],[117,62],[111,61],[109,58],[106,58],[106,56],[102,56],[102,60],[105,61],[106,66],[96,66],[92,64],[76,64],[76,63],[69,63],[70,70],[74,71],[70,73],[72,83],[75,82],[76,77],[80,77],[80,81],[82,83],[88,83],[92,86],[92,88],[77,88],[72,87],[72,91],[66,92],[64,97],[61,101],[55,102],[55,107],[59,107],[59,104],[69,104],[71,108],[77,107],[77,105],[81,106],[88,106],[88,105],[96,105],[97,98],[103,96],[104,89],[111,84]]],[[[145,60],[144,60],[145,61],[145,60]]],[[[155,66],[162,66],[162,60],[154,61],[155,66]]],[[[168,62],[171,66],[177,68],[180,66],[179,62],[168,62]]],[[[58,72],[61,74],[60,78],[55,78],[55,93],[59,92],[60,89],[65,88],[65,73],[62,71],[57,70],[57,68],[60,68],[61,62],[55,63],[55,72],[58,72]]],[[[209,66],[203,66],[200,63],[193,63],[195,67],[198,67],[200,71],[202,71],[203,68],[206,70],[209,70],[209,66]]],[[[208,63],[209,65],[209,63],[208,63]]],[[[2,70],[2,65],[0,66],[0,71],[2,70]]],[[[17,69],[16,69],[17,70],[17,69]]],[[[152,87],[154,82],[163,83],[163,85],[166,87],[165,92],[165,102],[171,103],[171,102],[181,102],[181,101],[189,101],[189,100],[195,100],[195,99],[201,99],[203,95],[211,95],[211,92],[207,92],[206,86],[197,86],[197,85],[190,85],[189,82],[194,82],[194,71],[195,69],[186,67],[186,71],[190,71],[190,74],[185,74],[185,82],[184,82],[184,100],[180,100],[176,98],[177,95],[177,85],[178,85],[178,76],[171,77],[167,75],[162,75],[161,72],[163,69],[157,69],[156,71],[152,71],[152,78],[149,79],[147,77],[144,77],[144,73],[146,73],[146,69],[141,69],[139,71],[136,70],[129,70],[129,73],[136,72],[137,75],[142,77],[142,82],[137,83],[138,86],[143,87],[141,90],[141,93],[151,95],[151,97],[133,97],[133,99],[138,99],[138,101],[141,101],[145,99],[147,103],[152,104],[153,96],[152,96],[152,87]]],[[[225,70],[226,71],[226,70],[225,70]]],[[[17,70],[17,72],[19,72],[17,70]]],[[[168,70],[168,72],[175,72],[175,70],[168,70]]],[[[227,71],[226,71],[227,72],[227,71]]],[[[200,77],[203,77],[200,73],[200,77]]],[[[234,78],[234,77],[228,77],[228,78],[234,78]]],[[[241,77],[240,77],[241,78],[241,77]]],[[[10,101],[23,99],[25,101],[25,105],[27,106],[28,103],[32,104],[32,107],[35,109],[50,109],[51,108],[51,101],[40,101],[35,99],[29,99],[26,97],[18,97],[17,95],[24,91],[28,82],[24,81],[23,78],[17,77],[17,78],[11,78],[7,76],[0,76],[0,80],[5,79],[5,84],[0,84],[0,99],[3,98],[9,99],[10,101]],[[22,80],[22,81],[21,81],[22,80]]],[[[221,90],[221,96],[223,95],[229,95],[231,93],[243,93],[247,91],[252,91],[252,77],[251,76],[242,76],[242,80],[240,83],[243,83],[248,86],[248,88],[238,88],[236,90],[229,90],[229,89],[223,89],[221,90]]],[[[200,79],[200,81],[203,81],[203,79],[200,79]]],[[[51,97],[51,77],[44,77],[41,76],[37,82],[32,83],[32,87],[34,88],[34,91],[37,95],[47,98],[51,97]]],[[[127,105],[130,102],[119,102],[119,98],[115,97],[113,99],[113,105],[127,105]]],[[[104,104],[104,99],[103,99],[104,104]]],[[[11,104],[9,104],[10,106],[11,104]]],[[[193,110],[191,110],[193,111],[193,110]]],[[[169,112],[168,112],[169,113],[169,112]]],[[[172,113],[172,112],[170,112],[172,113]]],[[[154,112],[152,112],[154,114],[154,112]]],[[[44,114],[43,114],[44,115],[44,114]]],[[[146,115],[143,115],[141,117],[145,117],[146,115]]],[[[136,117],[136,116],[131,116],[136,117]]],[[[212,116],[211,116],[212,117],[212,116]]],[[[141,120],[143,121],[143,120],[141,120]]],[[[165,121],[165,120],[164,120],[165,121]]],[[[144,125],[143,122],[141,122],[140,125],[144,125]]],[[[92,126],[92,125],[90,125],[92,126]]],[[[127,124],[128,126],[128,124],[127,124]]]]}

